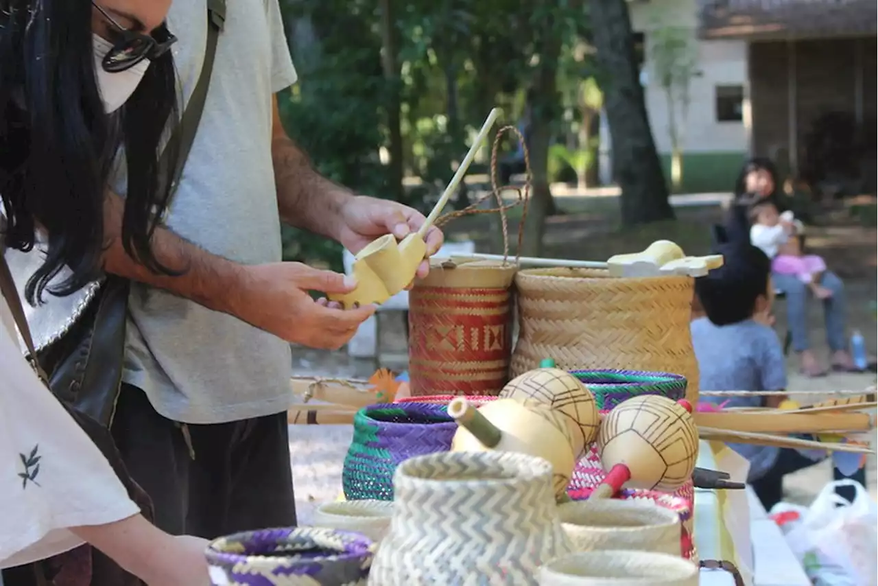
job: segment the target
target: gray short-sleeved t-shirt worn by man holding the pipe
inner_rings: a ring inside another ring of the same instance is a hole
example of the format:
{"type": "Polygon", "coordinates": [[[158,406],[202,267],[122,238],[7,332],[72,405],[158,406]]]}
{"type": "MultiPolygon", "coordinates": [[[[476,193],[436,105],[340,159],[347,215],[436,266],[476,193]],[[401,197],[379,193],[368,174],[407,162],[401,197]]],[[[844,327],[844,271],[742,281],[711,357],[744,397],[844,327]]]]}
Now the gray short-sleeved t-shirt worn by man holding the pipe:
{"type": "MultiPolygon", "coordinates": [[[[169,29],[188,101],[207,39],[206,0],[175,0],[169,29]]],[[[168,226],[243,264],[281,260],[271,97],[296,82],[277,0],[227,2],[198,136],[168,226]]],[[[124,195],[121,170],[114,186],[124,195]]],[[[289,344],[176,295],[133,286],[124,380],[163,416],[223,423],[291,406],[289,344]]]]}

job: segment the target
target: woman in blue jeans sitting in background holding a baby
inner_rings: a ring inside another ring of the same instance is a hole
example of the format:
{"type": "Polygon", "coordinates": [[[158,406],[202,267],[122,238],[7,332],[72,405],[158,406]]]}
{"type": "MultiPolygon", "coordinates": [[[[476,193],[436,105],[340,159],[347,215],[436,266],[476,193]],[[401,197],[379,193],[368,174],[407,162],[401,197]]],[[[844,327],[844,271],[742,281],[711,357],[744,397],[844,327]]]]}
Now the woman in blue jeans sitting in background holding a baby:
{"type": "MultiPolygon", "coordinates": [[[[726,229],[735,240],[750,239],[751,221],[748,210],[756,203],[772,203],[779,213],[788,210],[788,199],[778,188],[774,165],[766,159],[752,159],[745,163],[738,177],[735,199],[731,206],[726,229]]],[[[793,349],[799,355],[800,371],[808,377],[824,376],[826,371],[810,348],[807,304],[811,285],[795,274],[773,272],[774,287],[787,297],[787,322],[793,338],[793,349]]],[[[846,336],[845,285],[832,271],[823,271],[815,284],[827,294],[821,300],[826,316],[826,342],[831,351],[832,369],[856,372],[848,351],[846,336]]]]}

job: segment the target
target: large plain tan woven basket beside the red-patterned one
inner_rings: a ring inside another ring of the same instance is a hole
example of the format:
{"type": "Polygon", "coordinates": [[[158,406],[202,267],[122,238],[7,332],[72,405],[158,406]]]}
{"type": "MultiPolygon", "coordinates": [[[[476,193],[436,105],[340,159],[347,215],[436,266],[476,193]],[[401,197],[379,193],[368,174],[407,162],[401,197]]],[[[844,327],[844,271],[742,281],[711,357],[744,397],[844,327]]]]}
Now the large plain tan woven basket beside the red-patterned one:
{"type": "Polygon", "coordinates": [[[554,358],[558,368],[678,373],[698,402],[689,334],[693,279],[611,278],[608,271],[533,269],[515,276],[520,333],[513,377],[554,358]]]}

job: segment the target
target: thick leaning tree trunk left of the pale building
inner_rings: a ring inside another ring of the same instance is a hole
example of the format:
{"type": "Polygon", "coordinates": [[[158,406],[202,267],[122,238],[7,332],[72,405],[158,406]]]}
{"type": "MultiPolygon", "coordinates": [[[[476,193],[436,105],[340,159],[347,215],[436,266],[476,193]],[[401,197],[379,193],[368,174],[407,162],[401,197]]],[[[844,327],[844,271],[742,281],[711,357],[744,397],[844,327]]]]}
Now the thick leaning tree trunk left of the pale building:
{"type": "Polygon", "coordinates": [[[594,47],[613,141],[613,174],[622,188],[626,226],[673,219],[659,154],[637,74],[634,35],[626,0],[590,0],[594,47]]]}

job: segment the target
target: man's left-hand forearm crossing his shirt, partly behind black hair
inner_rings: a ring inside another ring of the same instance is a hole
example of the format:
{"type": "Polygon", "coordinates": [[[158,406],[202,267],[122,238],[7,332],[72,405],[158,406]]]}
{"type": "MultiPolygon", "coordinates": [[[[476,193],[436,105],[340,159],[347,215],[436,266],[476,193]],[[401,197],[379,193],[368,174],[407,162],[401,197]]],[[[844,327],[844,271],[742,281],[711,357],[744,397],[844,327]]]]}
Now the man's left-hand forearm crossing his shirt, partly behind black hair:
{"type": "Polygon", "coordinates": [[[179,276],[156,274],[128,255],[122,246],[124,201],[115,193],[104,200],[104,230],[107,249],[104,270],[175,293],[199,305],[235,315],[240,304],[243,279],[241,264],[212,255],[168,229],[158,228],[152,240],[155,259],[179,276]]]}

